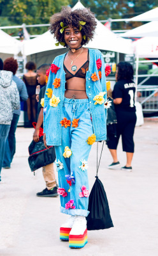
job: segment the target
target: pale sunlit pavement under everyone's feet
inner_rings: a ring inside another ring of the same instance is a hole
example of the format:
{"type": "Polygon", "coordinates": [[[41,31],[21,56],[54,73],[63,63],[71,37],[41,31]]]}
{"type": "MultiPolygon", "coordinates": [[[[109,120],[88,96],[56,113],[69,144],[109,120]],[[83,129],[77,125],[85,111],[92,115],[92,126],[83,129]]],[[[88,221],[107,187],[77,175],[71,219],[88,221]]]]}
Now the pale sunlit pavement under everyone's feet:
{"type": "MultiPolygon", "coordinates": [[[[2,170],[0,184],[1,256],[157,256],[158,186],[157,122],[136,127],[133,172],[108,170],[112,163],[106,145],[99,168],[114,227],[88,231],[88,243],[71,249],[59,240],[59,227],[68,216],[59,212],[59,197],[40,198],[45,188],[41,169],[34,176],[28,164],[28,146],[33,129],[18,127],[17,152],[8,170],[2,170]]],[[[99,151],[101,143],[99,143],[99,151]]],[[[121,166],[126,153],[118,148],[121,166]]],[[[96,175],[96,143],[89,157],[90,188],[96,175]]],[[[57,177],[56,167],[55,175],[57,177]]]]}

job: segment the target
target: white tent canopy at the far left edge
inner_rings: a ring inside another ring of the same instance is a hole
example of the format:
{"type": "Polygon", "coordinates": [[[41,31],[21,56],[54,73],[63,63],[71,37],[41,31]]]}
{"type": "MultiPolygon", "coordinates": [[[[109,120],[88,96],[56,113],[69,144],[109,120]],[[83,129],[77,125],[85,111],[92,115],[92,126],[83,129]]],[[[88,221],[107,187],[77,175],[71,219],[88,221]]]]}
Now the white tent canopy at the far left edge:
{"type": "Polygon", "coordinates": [[[3,30],[0,29],[0,52],[7,53],[7,54],[18,54],[21,49],[21,42],[17,39],[11,37],[3,30]]]}

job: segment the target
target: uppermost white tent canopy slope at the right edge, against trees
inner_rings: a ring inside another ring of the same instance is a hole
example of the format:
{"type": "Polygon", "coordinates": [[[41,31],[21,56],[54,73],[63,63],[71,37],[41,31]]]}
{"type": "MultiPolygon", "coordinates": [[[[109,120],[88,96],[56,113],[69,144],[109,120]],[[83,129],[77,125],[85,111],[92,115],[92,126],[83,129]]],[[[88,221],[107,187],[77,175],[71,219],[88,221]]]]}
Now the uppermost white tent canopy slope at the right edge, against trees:
{"type": "Polygon", "coordinates": [[[148,12],[142,13],[136,17],[131,18],[132,21],[154,21],[158,20],[158,7],[148,12]]]}

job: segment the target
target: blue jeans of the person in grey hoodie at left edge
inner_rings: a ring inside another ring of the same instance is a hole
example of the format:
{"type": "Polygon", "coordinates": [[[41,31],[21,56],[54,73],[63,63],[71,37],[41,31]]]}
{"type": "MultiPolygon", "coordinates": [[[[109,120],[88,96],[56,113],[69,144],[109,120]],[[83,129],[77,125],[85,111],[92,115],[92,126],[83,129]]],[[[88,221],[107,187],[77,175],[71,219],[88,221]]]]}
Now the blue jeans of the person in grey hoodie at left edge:
{"type": "Polygon", "coordinates": [[[10,125],[8,124],[0,124],[0,181],[1,181],[1,169],[3,166],[4,159],[4,147],[6,144],[6,138],[10,131],[10,125]]]}

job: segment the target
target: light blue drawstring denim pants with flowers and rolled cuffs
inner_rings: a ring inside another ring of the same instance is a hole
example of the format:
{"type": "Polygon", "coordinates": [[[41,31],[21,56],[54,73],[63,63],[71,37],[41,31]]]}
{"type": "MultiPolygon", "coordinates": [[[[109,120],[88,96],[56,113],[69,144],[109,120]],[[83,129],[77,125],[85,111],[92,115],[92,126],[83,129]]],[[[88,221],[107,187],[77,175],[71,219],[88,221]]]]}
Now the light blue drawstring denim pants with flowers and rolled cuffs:
{"type": "Polygon", "coordinates": [[[91,145],[86,140],[94,133],[90,118],[89,99],[65,98],[62,107],[62,120],[63,118],[70,120],[71,124],[68,127],[62,126],[61,146],[55,146],[59,191],[61,190],[60,195],[62,194],[60,196],[61,212],[73,216],[87,216],[89,214],[87,211],[89,198],[86,193],[83,196],[82,189],[84,188],[85,192],[89,190],[87,161],[91,145]],[[74,119],[78,118],[78,127],[73,127],[75,126],[73,125],[74,119]],[[71,156],[63,156],[65,147],[71,149],[71,156]],[[66,177],[66,175],[71,175],[74,178],[71,180],[71,177],[66,177]]]}

